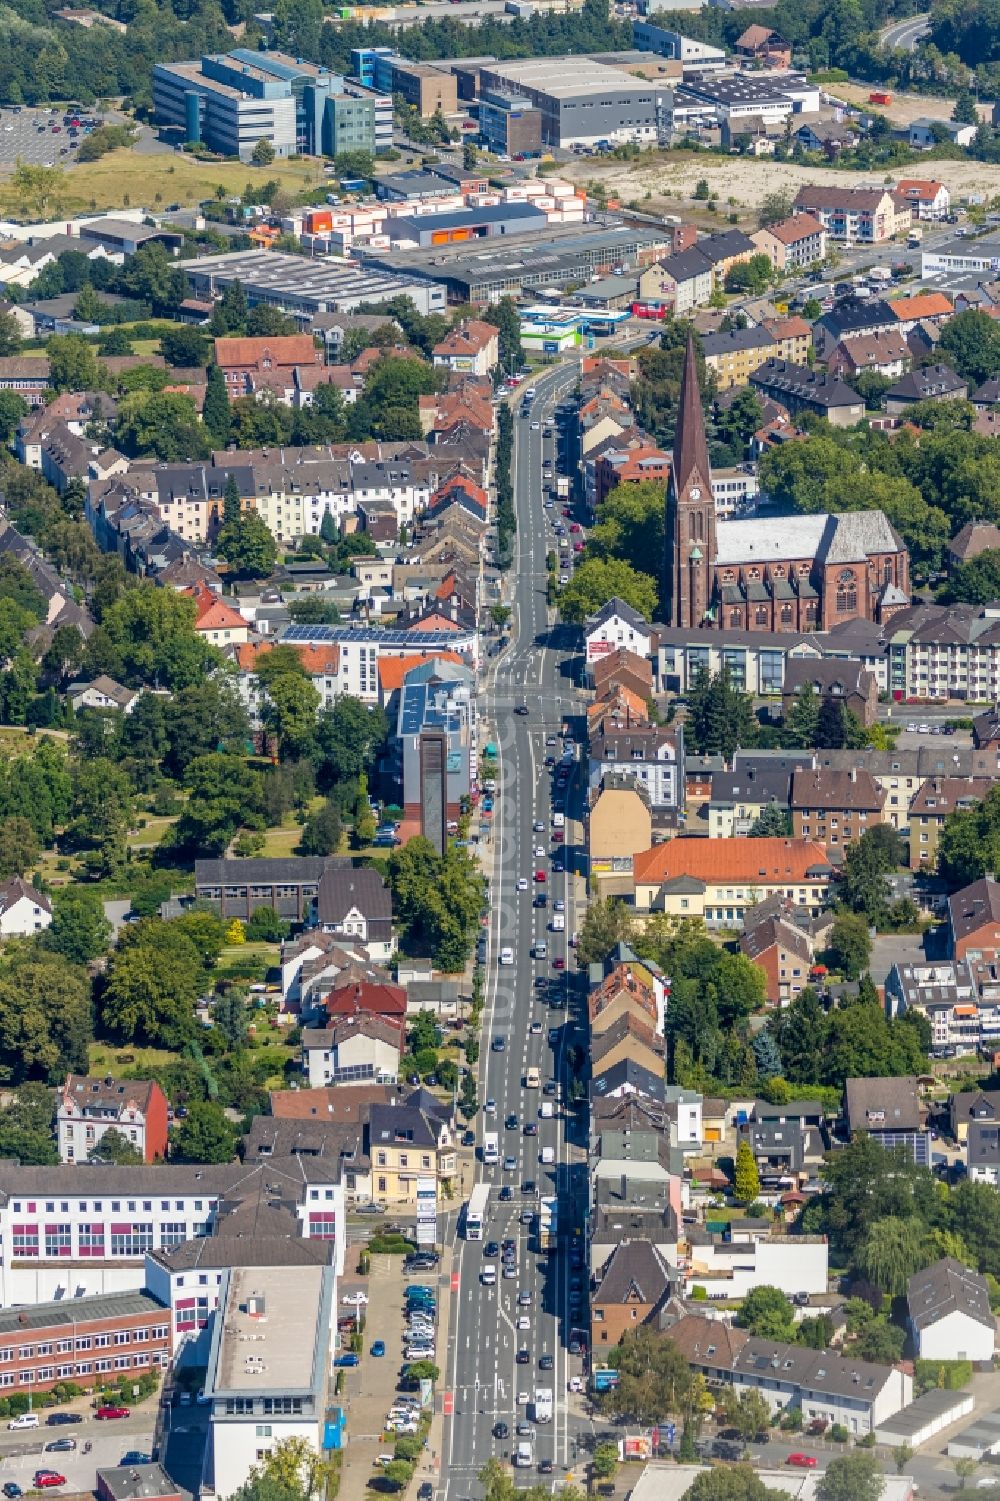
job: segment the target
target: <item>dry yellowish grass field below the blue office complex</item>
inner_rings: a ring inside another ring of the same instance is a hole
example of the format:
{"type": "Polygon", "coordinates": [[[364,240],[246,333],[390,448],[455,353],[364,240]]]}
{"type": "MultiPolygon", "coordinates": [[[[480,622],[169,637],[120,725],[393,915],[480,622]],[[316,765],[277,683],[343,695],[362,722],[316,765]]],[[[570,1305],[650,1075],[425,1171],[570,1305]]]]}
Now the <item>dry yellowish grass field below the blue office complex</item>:
{"type": "MultiPolygon", "coordinates": [[[[12,171],[12,165],[8,171],[12,171]]],[[[248,182],[276,179],[288,192],[300,192],[323,180],[317,161],[248,167],[234,162],[198,162],[180,152],[162,156],[134,150],[110,152],[99,162],[68,168],[62,191],[44,210],[47,218],[87,213],[98,209],[159,209],[170,203],[189,206],[213,198],[216,188],[239,194],[248,182]]],[[[26,207],[8,182],[0,179],[0,216],[24,218],[26,207]]]]}

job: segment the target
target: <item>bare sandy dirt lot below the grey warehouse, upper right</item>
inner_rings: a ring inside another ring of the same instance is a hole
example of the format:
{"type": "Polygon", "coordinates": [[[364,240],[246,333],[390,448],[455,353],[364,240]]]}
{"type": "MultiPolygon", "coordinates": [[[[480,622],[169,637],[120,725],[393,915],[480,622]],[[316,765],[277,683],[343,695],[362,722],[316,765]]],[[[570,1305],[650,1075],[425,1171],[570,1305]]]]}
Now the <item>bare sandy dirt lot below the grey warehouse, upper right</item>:
{"type": "Polygon", "coordinates": [[[730,213],[739,213],[746,222],[757,218],[761,201],[770,192],[788,192],[794,197],[805,183],[832,183],[838,188],[880,188],[899,177],[934,176],[950,191],[952,198],[968,192],[983,192],[992,197],[1000,192],[1000,171],[983,162],[932,162],[922,171],[919,165],[904,168],[892,176],[877,173],[844,173],[830,167],[799,167],[793,162],[775,162],[769,158],[755,161],[745,156],[710,156],[701,152],[655,152],[635,162],[616,162],[599,158],[560,167],[560,176],[587,186],[602,183],[608,197],[619,198],[650,213],[689,213],[701,210],[698,222],[725,225],[730,213]],[[712,219],[704,216],[704,204],[692,200],[698,180],[707,179],[709,188],[718,195],[718,212],[712,219]],[[647,197],[649,194],[649,197],[647,197]]]}

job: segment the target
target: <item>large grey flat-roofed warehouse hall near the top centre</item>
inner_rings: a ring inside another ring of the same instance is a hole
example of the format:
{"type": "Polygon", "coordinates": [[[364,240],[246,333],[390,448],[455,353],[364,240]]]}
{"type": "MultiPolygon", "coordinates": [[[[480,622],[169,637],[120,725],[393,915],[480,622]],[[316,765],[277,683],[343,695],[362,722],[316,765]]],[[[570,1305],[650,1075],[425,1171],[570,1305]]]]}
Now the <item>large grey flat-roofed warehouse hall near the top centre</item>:
{"type": "Polygon", "coordinates": [[[527,99],[541,113],[542,144],[655,144],[662,87],[589,57],[535,57],[488,63],[482,89],[527,99]]]}

